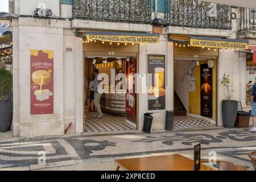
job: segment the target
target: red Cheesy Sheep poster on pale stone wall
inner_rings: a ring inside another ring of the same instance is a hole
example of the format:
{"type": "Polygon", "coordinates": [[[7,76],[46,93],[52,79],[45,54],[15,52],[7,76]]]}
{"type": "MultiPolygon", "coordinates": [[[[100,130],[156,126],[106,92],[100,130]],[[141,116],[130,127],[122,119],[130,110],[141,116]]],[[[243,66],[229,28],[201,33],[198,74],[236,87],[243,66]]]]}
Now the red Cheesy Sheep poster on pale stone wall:
{"type": "Polygon", "coordinates": [[[30,51],[30,113],[53,114],[53,51],[30,51]]]}

